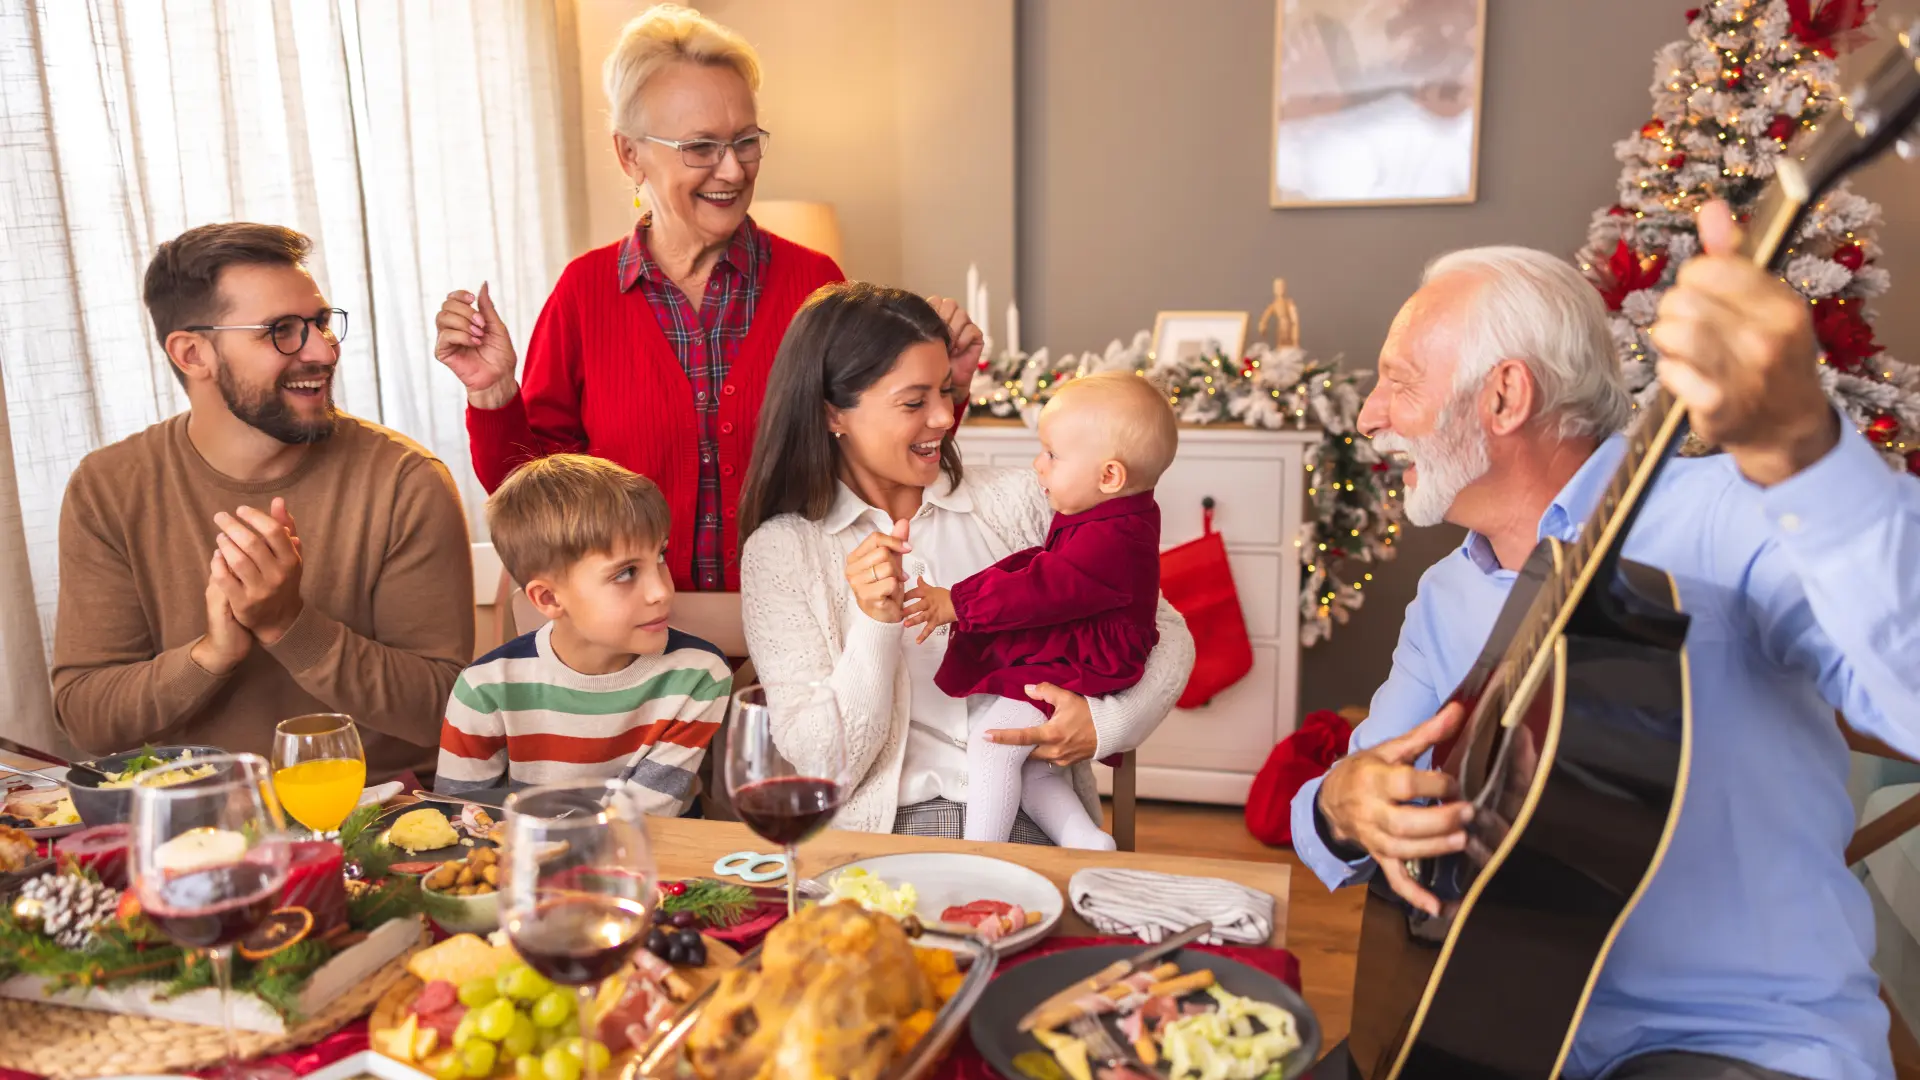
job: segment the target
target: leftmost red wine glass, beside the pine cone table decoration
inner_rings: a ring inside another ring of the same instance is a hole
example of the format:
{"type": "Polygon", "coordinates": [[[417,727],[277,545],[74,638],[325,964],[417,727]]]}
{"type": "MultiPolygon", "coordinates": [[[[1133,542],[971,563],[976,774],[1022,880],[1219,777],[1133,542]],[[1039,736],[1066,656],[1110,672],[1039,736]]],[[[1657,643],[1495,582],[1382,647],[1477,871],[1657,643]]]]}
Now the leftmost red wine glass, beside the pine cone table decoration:
{"type": "Polygon", "coordinates": [[[227,1028],[223,1074],[280,1080],[278,1067],[240,1065],[232,1015],[232,947],[259,926],[286,886],[290,840],[257,753],[194,757],[142,773],[132,788],[132,888],[173,944],[205,949],[227,1028]],[[205,773],[211,769],[211,773],[205,773]]]}

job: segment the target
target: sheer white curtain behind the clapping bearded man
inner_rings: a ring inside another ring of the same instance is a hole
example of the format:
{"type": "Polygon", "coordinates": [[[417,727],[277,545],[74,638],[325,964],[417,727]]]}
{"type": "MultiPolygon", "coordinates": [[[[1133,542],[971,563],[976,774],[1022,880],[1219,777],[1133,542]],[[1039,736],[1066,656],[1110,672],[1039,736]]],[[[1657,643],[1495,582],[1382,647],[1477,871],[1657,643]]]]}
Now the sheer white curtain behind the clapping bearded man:
{"type": "Polygon", "coordinates": [[[524,332],[566,259],[561,44],[553,0],[0,0],[0,730],[50,732],[67,477],[186,405],[140,281],[194,225],[313,238],[340,407],[438,454],[474,517],[432,319],[490,279],[524,332]]]}

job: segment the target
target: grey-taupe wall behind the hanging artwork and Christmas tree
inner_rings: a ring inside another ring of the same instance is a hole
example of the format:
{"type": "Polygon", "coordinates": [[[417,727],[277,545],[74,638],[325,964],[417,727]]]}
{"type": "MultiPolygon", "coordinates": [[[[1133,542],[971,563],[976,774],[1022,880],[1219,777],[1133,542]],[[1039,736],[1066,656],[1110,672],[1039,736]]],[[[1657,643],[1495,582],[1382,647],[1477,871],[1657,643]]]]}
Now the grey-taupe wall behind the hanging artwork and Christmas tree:
{"type": "MultiPolygon", "coordinates": [[[[1271,0],[1021,4],[1021,336],[1087,350],[1162,307],[1258,313],[1284,277],[1304,344],[1371,367],[1428,258],[1469,244],[1572,254],[1613,198],[1613,140],[1649,115],[1653,50],[1684,33],[1684,4],[1488,8],[1476,204],[1269,209],[1271,0]]],[[[1920,298],[1912,169],[1882,163],[1859,186],[1899,238],[1885,258],[1895,296],[1920,298]]],[[[1920,304],[1880,304],[1880,338],[1920,359],[1920,304]]],[[[1304,709],[1371,698],[1419,571],[1457,542],[1453,528],[1417,530],[1375,575],[1356,621],[1306,651],[1304,709]]]]}

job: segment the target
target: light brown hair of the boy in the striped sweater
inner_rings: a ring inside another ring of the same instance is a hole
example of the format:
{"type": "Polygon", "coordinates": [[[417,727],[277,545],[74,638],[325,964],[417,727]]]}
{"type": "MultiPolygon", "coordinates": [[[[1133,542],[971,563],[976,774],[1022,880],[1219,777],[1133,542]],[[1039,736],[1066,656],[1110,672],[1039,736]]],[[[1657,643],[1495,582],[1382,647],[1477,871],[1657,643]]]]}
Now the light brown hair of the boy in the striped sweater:
{"type": "Polygon", "coordinates": [[[493,550],[526,584],[564,575],[580,559],[628,542],[666,542],[672,513],[653,480],[586,454],[553,454],[520,465],[486,500],[493,550]]]}

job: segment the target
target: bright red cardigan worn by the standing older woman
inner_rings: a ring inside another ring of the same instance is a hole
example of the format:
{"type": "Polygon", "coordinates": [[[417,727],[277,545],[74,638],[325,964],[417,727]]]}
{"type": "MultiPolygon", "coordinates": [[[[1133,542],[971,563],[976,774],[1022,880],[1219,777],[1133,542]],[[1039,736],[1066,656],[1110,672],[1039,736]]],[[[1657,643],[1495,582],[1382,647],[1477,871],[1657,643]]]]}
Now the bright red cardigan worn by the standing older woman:
{"type": "MultiPolygon", "coordinates": [[[[720,388],[720,507],[726,588],[739,588],[739,484],[787,323],[822,284],[843,281],[820,252],[768,234],[766,282],[753,325],[720,388]]],[[[693,588],[693,498],[699,423],[693,386],[639,288],[620,292],[620,244],[595,248],[561,273],[526,346],[520,394],[499,409],[467,409],[474,473],[493,490],[515,467],[547,454],[593,454],[647,477],[666,494],[674,530],[666,557],[676,588],[693,588]]]]}

